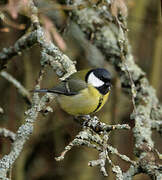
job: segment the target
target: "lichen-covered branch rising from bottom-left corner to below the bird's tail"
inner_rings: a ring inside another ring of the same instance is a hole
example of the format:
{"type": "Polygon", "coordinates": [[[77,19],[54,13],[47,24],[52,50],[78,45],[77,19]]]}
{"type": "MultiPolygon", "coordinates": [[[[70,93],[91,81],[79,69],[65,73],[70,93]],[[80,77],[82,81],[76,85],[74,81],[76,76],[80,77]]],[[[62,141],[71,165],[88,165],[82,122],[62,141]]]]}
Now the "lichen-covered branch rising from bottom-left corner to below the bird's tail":
{"type": "Polygon", "coordinates": [[[3,156],[3,158],[0,160],[0,178],[2,179],[7,178],[7,171],[12,167],[13,163],[21,153],[26,140],[29,138],[33,131],[33,123],[35,122],[38,115],[38,94],[34,94],[32,103],[32,107],[26,112],[25,123],[22,124],[16,132],[16,137],[12,144],[12,149],[10,153],[8,155],[3,156]]]}

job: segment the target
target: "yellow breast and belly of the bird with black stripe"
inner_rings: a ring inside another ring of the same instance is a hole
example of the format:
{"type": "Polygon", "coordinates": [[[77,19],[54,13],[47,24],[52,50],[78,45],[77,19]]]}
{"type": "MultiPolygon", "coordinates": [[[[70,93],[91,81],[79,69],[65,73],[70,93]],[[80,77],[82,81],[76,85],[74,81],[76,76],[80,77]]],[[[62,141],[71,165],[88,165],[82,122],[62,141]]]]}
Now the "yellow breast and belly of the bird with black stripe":
{"type": "Polygon", "coordinates": [[[58,102],[61,108],[71,115],[87,115],[99,111],[105,104],[108,95],[109,93],[101,95],[96,88],[89,85],[77,95],[59,95],[58,102]]]}

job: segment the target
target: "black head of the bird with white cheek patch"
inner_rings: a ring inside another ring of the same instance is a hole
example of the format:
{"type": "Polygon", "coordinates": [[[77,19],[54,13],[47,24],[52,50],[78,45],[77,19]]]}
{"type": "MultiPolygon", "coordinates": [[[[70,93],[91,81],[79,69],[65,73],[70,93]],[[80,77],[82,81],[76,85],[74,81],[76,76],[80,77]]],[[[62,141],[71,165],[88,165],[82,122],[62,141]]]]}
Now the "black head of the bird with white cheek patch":
{"type": "Polygon", "coordinates": [[[111,75],[104,68],[91,69],[87,73],[85,80],[103,95],[107,94],[111,88],[111,75]]]}

